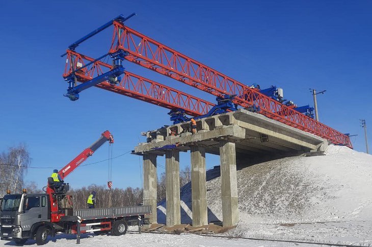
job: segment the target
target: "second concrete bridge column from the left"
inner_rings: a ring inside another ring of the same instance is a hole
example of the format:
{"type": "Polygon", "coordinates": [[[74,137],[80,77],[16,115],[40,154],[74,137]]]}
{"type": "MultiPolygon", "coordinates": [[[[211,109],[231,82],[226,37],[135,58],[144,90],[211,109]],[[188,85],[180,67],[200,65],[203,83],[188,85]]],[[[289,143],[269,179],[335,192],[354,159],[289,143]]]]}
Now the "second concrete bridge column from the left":
{"type": "Polygon", "coordinates": [[[167,227],[181,224],[179,198],[179,151],[167,150],[165,159],[167,227]]]}

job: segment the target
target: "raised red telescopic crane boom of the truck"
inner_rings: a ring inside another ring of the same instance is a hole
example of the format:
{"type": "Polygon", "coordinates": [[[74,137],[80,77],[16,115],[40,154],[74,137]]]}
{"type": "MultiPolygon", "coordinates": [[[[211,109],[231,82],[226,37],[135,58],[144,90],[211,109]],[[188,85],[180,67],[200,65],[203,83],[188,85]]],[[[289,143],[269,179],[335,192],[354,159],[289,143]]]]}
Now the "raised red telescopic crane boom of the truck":
{"type": "Polygon", "coordinates": [[[82,164],[89,156],[93,155],[93,153],[102,146],[103,143],[109,141],[110,144],[114,143],[114,137],[111,135],[109,131],[105,131],[102,133],[101,137],[94,142],[90,147],[86,148],[82,151],[75,159],[73,159],[70,163],[68,163],[64,168],[62,168],[58,174],[64,179],[68,174],[70,174],[73,170],[75,170],[80,164],[82,164]]]}

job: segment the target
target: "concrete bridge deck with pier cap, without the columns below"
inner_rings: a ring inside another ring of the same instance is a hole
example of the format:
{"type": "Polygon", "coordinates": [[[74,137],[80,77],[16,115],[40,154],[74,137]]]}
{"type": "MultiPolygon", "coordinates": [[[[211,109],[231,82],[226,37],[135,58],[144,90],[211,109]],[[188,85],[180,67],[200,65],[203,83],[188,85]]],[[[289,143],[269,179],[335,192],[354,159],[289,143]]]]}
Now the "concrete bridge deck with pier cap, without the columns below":
{"type": "Polygon", "coordinates": [[[190,145],[203,145],[207,153],[219,155],[219,140],[227,139],[236,144],[237,152],[251,155],[299,155],[310,151],[324,151],[328,141],[305,131],[282,124],[261,114],[239,109],[197,120],[197,134],[190,133],[190,123],[167,126],[142,133],[147,142],[135,147],[134,154],[147,152],[164,155],[156,147],[178,143],[176,149],[190,150],[190,145]],[[175,136],[170,135],[176,130],[175,136]]]}

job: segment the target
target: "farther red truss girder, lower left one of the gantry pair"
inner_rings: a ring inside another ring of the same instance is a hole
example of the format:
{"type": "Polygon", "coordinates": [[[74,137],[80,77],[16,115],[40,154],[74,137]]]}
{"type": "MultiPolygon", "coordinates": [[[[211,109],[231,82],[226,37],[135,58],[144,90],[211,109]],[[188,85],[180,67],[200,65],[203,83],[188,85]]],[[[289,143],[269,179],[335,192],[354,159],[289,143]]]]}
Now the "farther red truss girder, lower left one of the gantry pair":
{"type": "MultiPolygon", "coordinates": [[[[67,50],[67,63],[64,76],[69,75],[76,68],[77,63],[85,66],[93,60],[93,58],[86,55],[67,50]]],[[[89,69],[83,68],[77,72],[77,79],[79,82],[85,82],[112,68],[111,65],[102,61],[95,61],[89,69]]],[[[168,109],[181,108],[185,110],[185,113],[192,116],[204,115],[214,106],[214,104],[208,101],[185,94],[182,91],[128,71],[125,71],[122,80],[116,85],[112,85],[109,82],[102,82],[96,86],[168,109]]]]}

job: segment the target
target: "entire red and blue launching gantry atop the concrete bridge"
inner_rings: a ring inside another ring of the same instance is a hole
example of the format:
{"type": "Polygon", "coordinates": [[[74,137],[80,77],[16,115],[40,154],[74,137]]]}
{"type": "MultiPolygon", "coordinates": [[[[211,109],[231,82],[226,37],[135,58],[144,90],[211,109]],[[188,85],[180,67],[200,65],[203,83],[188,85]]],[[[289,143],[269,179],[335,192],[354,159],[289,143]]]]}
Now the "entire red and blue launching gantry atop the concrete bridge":
{"type": "Polygon", "coordinates": [[[119,15],[68,47],[66,53],[62,55],[67,54],[63,74],[69,84],[66,97],[73,101],[77,100],[81,91],[96,86],[168,108],[171,110],[169,114],[174,122],[234,111],[238,107],[243,107],[325,138],[333,144],[353,148],[348,135],[314,120],[309,106],[296,109],[294,105],[271,97],[268,91],[257,90],[238,82],[129,28],[124,23],[134,15],[135,13],[128,17],[119,15]],[[76,52],[78,45],[112,25],[114,32],[107,53],[92,58],[76,52]],[[112,58],[112,64],[102,61],[107,57],[112,58]],[[126,71],[122,65],[123,60],[208,92],[217,97],[218,104],[215,105],[126,71]]]}

